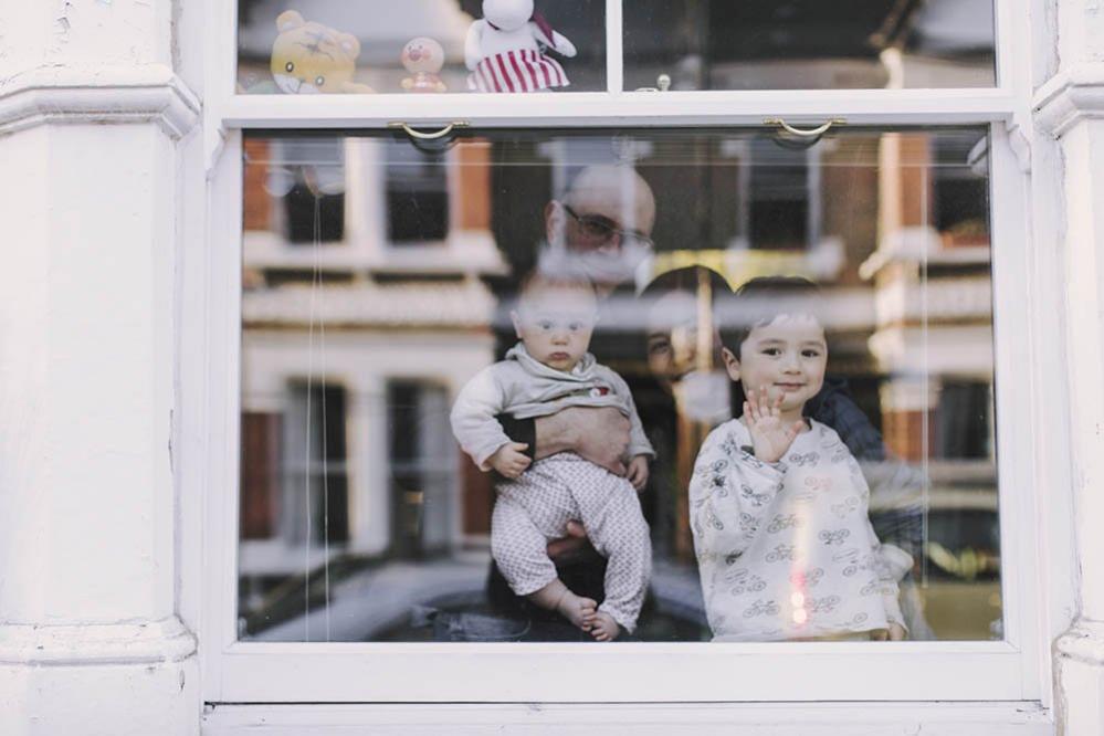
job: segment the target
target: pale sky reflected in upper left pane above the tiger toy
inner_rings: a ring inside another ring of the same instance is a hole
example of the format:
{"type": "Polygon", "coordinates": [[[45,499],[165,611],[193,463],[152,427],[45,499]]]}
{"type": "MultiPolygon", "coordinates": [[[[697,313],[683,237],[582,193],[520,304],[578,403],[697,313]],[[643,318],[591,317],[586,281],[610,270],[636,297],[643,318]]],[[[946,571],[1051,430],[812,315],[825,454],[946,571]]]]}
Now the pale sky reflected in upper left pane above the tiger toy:
{"type": "MultiPolygon", "coordinates": [[[[259,0],[249,6],[249,23],[238,32],[239,48],[243,56],[266,57],[276,35],[276,17],[288,10],[287,0],[259,0]]],[[[296,10],[307,21],[316,21],[360,39],[361,65],[395,64],[396,50],[418,35],[437,39],[450,60],[462,60],[464,38],[472,22],[472,18],[460,10],[456,0],[387,3],[312,0],[296,10]]]]}

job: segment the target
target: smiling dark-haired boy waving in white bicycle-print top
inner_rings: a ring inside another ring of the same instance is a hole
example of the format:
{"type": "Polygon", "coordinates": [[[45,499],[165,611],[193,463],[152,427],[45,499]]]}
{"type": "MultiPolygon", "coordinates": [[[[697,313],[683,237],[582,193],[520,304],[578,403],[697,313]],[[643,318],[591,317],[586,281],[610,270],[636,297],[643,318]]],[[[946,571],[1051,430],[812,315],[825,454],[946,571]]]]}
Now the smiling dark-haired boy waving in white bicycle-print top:
{"type": "Polygon", "coordinates": [[[755,278],[721,315],[743,416],[709,433],[690,485],[715,641],[903,639],[897,580],[912,558],[880,545],[859,464],[803,416],[828,362],[816,286],[755,278]]]}

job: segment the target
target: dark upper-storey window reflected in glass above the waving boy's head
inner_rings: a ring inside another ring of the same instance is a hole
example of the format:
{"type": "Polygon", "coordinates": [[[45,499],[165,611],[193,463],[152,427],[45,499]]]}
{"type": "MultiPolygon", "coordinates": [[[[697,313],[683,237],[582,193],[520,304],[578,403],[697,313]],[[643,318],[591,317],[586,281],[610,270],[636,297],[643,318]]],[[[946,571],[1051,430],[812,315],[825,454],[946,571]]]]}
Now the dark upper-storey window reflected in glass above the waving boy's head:
{"type": "Polygon", "coordinates": [[[814,241],[809,155],[771,140],[750,141],[747,232],[751,248],[797,250],[814,241]]]}

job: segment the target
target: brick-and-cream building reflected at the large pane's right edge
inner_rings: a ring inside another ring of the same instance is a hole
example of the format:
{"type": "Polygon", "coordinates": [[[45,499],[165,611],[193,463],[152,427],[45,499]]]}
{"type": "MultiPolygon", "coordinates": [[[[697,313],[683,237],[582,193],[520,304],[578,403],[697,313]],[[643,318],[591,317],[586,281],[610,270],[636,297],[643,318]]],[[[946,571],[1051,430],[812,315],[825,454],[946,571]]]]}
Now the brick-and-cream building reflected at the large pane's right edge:
{"type": "Polygon", "coordinates": [[[963,166],[969,149],[937,140],[943,150],[924,134],[882,139],[879,248],[861,270],[875,290],[870,349],[889,378],[881,402],[891,449],[908,460],[990,459],[984,179],[963,166]]]}

